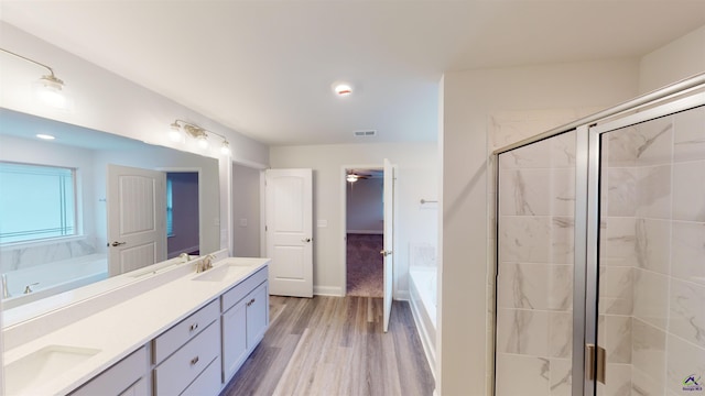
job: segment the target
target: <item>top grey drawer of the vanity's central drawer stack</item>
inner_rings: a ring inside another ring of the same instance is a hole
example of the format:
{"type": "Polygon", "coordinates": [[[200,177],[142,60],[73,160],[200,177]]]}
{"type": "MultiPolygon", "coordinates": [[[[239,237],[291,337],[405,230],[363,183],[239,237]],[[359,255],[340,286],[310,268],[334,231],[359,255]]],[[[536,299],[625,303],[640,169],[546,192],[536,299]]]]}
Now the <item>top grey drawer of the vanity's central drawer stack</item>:
{"type": "Polygon", "coordinates": [[[216,321],[220,315],[218,308],[218,300],[215,299],[155,338],[152,345],[152,363],[159,364],[216,321]]]}

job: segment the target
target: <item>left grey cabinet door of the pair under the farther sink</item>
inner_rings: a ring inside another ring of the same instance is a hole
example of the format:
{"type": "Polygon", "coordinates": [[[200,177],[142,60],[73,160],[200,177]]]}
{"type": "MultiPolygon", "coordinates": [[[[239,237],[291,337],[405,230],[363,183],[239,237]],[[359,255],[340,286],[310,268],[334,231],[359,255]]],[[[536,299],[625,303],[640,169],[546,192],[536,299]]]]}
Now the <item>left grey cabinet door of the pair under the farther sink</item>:
{"type": "Polygon", "coordinates": [[[247,302],[243,299],[223,314],[223,381],[228,381],[247,359],[247,302]]]}

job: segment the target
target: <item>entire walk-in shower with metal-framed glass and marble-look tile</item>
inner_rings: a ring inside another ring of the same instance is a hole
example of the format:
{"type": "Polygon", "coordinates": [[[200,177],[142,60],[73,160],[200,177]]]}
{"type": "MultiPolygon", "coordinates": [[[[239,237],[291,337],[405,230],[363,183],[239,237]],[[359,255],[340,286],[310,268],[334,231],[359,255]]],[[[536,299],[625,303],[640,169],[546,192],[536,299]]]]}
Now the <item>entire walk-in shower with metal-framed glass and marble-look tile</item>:
{"type": "Polygon", "coordinates": [[[495,155],[495,394],[705,394],[705,75],[495,155]]]}

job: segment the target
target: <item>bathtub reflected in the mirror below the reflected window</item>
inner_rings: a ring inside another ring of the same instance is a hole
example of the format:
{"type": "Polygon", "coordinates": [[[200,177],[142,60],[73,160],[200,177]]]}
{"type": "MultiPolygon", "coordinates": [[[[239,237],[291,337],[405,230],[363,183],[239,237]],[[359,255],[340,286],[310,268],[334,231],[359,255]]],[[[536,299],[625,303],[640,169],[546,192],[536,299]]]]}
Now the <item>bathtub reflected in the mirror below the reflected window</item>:
{"type": "Polygon", "coordinates": [[[66,290],[75,289],[108,277],[108,258],[105,254],[41,264],[4,273],[9,298],[2,299],[2,308],[9,309],[66,290]],[[24,294],[28,285],[32,293],[24,294]]]}

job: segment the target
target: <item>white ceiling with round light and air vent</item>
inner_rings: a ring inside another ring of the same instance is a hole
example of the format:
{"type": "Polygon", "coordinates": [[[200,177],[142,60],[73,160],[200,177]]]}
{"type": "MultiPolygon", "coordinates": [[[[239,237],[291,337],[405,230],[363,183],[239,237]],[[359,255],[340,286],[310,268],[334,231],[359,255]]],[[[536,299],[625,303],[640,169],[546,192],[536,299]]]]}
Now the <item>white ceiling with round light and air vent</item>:
{"type": "MultiPolygon", "coordinates": [[[[7,1],[0,18],[267,144],[434,141],[446,70],[638,57],[705,1],[7,1]],[[333,95],[346,80],[355,92],[333,95]]],[[[52,65],[61,76],[61,65],[52,65]]],[[[68,82],[68,81],[67,81],[68,82]]]]}

